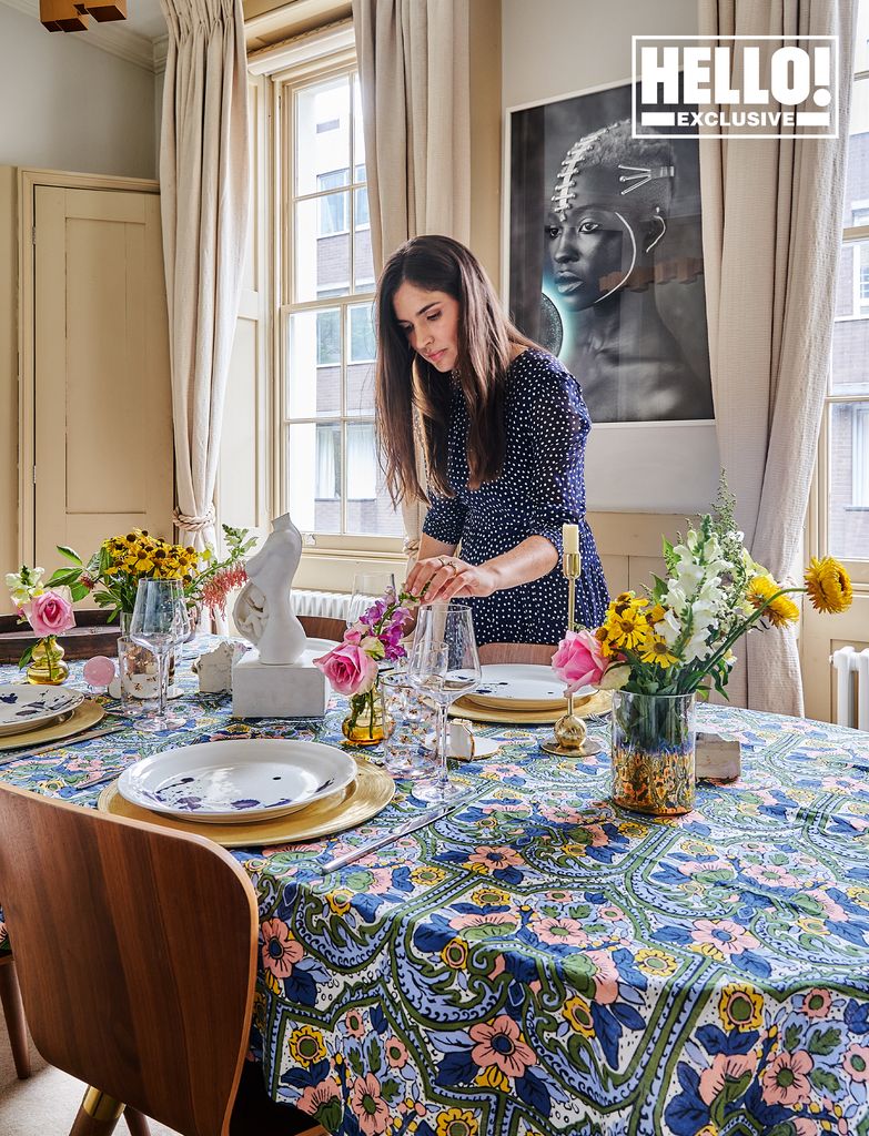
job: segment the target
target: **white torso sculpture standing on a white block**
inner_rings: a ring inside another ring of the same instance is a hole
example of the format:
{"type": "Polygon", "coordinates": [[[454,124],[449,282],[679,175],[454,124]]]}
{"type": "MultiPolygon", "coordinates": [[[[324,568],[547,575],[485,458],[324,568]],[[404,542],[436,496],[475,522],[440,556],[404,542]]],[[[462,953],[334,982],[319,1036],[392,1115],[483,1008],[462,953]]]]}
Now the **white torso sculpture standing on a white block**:
{"type": "Polygon", "coordinates": [[[302,556],[302,534],[290,513],[271,521],[266,543],[248,561],[248,583],[233,608],[233,619],[257,648],[264,663],[293,663],[306,649],[304,628],[295,618],[292,585],[302,556]]]}

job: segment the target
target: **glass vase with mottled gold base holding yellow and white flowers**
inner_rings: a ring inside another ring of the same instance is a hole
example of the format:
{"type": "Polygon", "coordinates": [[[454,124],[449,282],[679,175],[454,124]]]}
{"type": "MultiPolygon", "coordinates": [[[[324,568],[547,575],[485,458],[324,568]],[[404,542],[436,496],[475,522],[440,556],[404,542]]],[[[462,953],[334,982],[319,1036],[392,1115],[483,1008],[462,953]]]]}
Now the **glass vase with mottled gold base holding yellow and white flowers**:
{"type": "Polygon", "coordinates": [[[694,694],[612,694],[612,801],[676,817],[694,808],[694,694]]]}

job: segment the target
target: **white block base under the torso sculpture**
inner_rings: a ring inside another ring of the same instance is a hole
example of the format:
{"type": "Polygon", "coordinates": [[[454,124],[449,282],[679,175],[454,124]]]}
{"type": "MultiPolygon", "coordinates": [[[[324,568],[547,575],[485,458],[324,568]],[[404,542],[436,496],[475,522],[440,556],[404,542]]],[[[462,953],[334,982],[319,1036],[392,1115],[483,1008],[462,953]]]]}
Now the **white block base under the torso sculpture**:
{"type": "Polygon", "coordinates": [[[233,715],[236,718],[321,718],[326,712],[326,676],[312,660],[321,651],[304,651],[296,662],[265,663],[248,651],[233,667],[233,715]]]}

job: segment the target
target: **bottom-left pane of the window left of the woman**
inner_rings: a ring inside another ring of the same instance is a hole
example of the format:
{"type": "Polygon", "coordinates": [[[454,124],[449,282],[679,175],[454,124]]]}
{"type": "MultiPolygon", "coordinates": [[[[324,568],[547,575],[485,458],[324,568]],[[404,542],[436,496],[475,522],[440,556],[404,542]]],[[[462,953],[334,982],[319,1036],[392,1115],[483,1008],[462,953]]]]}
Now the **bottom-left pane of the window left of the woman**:
{"type": "Polygon", "coordinates": [[[286,501],[304,533],[341,532],[341,426],[298,423],[286,433],[286,501]]]}

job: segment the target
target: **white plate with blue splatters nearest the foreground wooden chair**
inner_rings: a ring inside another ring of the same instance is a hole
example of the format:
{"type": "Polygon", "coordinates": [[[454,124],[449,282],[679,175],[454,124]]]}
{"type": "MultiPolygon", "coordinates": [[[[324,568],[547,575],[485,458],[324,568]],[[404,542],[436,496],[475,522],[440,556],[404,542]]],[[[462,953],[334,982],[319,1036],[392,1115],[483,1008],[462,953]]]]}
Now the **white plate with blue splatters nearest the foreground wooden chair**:
{"type": "Polygon", "coordinates": [[[118,792],[170,817],[242,824],[323,801],[356,775],[356,761],[334,745],[240,737],[143,758],[120,775],[118,792]]]}

